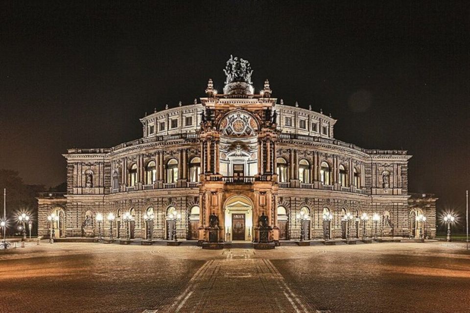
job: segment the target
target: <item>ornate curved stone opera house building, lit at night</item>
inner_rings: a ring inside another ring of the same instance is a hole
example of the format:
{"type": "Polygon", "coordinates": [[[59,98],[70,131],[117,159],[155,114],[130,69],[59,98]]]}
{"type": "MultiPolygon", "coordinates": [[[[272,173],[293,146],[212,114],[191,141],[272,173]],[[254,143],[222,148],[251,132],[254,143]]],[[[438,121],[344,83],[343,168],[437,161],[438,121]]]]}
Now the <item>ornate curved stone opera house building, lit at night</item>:
{"type": "Polygon", "coordinates": [[[49,236],[51,223],[55,237],[97,236],[102,213],[99,227],[109,236],[113,213],[115,238],[176,233],[207,242],[211,216],[224,242],[258,241],[260,217],[269,241],[361,238],[364,231],[418,238],[420,229],[435,236],[437,198],[408,192],[406,151],[335,139],[335,119],[278,103],[267,80],[255,94],[243,59],[231,58],[224,71],[223,92],[209,80],[200,101],[144,116],[141,138],[69,149],[67,193],[38,197],[39,234],[49,236]],[[57,221],[48,221],[51,213],[57,221]]]}

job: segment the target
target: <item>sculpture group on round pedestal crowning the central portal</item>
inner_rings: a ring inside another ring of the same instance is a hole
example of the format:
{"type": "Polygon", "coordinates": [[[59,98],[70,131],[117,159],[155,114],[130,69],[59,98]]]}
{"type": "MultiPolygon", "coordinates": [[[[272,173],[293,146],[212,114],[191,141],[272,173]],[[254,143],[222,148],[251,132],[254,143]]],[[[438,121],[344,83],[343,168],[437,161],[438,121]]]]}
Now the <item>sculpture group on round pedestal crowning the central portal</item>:
{"type": "Polygon", "coordinates": [[[254,88],[251,81],[250,62],[242,58],[230,56],[224,68],[225,86],[224,94],[253,94],[254,88]]]}

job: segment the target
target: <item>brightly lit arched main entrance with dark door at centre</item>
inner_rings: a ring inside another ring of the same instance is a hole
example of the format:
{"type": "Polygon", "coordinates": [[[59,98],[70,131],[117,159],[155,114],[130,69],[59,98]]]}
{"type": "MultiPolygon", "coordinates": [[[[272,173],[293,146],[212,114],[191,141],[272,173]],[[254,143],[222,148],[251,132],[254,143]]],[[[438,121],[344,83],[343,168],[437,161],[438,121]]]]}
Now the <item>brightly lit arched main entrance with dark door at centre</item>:
{"type": "Polygon", "coordinates": [[[225,201],[225,240],[253,240],[253,203],[244,196],[233,196],[225,201]]]}

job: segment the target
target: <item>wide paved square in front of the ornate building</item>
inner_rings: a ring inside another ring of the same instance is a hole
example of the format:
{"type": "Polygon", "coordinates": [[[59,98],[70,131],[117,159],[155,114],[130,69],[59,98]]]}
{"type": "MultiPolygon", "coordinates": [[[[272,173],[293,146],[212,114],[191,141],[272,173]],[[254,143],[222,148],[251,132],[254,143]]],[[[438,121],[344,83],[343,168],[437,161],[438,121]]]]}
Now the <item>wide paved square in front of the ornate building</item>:
{"type": "Polygon", "coordinates": [[[0,251],[0,313],[470,312],[464,243],[0,251]]]}

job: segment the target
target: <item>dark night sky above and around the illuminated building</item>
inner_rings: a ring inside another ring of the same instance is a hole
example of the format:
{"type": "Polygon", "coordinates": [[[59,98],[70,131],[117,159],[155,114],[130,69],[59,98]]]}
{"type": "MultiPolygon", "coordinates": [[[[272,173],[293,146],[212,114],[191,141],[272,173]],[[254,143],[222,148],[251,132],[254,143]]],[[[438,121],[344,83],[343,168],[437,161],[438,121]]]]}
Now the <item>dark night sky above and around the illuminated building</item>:
{"type": "Polygon", "coordinates": [[[144,112],[221,90],[234,54],[336,138],[408,150],[410,191],[464,209],[468,1],[312,2],[2,1],[0,168],[60,183],[67,148],[140,137],[144,112]]]}

